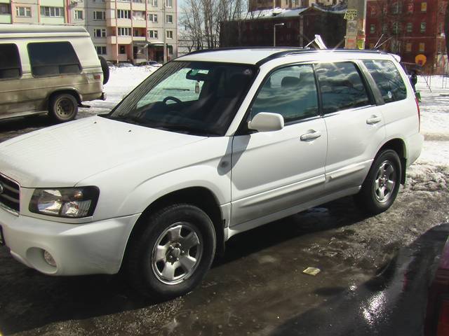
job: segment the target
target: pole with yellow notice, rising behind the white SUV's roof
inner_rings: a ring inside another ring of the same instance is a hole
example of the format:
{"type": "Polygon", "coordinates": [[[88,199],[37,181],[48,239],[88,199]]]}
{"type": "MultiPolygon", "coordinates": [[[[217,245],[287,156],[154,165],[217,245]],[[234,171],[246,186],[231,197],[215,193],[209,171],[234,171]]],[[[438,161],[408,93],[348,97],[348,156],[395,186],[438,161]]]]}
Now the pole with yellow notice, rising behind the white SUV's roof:
{"type": "Polygon", "coordinates": [[[344,14],[344,20],[347,20],[344,36],[346,49],[365,48],[366,1],[348,0],[348,9],[344,14]]]}

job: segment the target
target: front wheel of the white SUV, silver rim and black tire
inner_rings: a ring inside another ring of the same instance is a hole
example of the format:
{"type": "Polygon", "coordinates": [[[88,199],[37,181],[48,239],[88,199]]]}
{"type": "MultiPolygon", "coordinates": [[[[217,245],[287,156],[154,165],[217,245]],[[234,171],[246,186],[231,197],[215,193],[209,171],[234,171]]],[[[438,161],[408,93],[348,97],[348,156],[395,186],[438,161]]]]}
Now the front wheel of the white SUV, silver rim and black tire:
{"type": "Polygon", "coordinates": [[[175,204],[142,218],[126,255],[126,275],[140,294],[168,300],[192,291],[215,255],[215,230],[208,215],[175,204]]]}

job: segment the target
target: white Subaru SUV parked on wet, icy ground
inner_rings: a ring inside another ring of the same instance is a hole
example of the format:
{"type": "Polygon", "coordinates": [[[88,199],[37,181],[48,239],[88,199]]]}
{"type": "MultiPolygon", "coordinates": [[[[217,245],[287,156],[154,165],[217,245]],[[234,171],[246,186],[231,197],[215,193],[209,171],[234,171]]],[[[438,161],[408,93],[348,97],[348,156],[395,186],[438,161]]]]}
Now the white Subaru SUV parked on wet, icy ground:
{"type": "Polygon", "coordinates": [[[45,274],[192,290],[237,233],[347,195],[387,210],[420,113],[384,52],[254,48],[169,62],[107,116],[0,144],[0,227],[45,274]]]}

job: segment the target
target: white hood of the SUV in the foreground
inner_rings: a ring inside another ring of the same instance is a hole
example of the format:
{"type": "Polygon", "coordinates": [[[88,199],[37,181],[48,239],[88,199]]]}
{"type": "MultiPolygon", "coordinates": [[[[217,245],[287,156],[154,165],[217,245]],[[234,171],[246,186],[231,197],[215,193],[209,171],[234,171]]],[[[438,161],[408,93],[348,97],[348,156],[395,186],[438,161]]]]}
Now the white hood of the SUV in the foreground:
{"type": "Polygon", "coordinates": [[[88,176],[202,139],[98,116],[83,118],[0,144],[0,173],[25,188],[75,186],[88,176]]]}

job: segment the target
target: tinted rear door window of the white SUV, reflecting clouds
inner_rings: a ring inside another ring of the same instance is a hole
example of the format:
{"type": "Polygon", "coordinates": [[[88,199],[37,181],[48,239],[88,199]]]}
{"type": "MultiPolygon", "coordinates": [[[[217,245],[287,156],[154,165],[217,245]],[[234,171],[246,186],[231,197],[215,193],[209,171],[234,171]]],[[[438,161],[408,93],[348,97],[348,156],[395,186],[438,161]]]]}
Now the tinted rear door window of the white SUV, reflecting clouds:
{"type": "Polygon", "coordinates": [[[365,85],[353,63],[321,63],[315,67],[324,113],[370,104],[365,85]]]}

